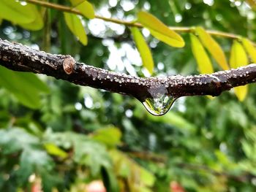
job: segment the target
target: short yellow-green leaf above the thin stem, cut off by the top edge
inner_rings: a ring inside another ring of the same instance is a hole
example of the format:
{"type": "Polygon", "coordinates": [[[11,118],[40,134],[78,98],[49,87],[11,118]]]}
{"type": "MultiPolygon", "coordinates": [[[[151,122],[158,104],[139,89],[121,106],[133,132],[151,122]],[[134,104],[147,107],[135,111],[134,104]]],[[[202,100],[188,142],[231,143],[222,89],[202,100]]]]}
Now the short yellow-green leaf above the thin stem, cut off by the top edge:
{"type": "Polygon", "coordinates": [[[86,0],[70,0],[72,3],[72,6],[75,7],[75,9],[78,9],[83,16],[89,19],[95,18],[94,13],[94,7],[89,1],[86,0]]]}

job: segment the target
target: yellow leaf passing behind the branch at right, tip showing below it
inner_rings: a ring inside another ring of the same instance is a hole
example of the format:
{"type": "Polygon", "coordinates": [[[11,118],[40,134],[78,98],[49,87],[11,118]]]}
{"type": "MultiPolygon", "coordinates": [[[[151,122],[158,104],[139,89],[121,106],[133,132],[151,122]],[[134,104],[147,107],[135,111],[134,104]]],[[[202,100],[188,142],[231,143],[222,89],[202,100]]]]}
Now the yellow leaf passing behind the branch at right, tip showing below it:
{"type": "MultiPolygon", "coordinates": [[[[244,47],[238,42],[234,41],[231,47],[230,53],[230,67],[231,68],[238,68],[239,66],[246,66],[248,64],[248,58],[244,47]]],[[[238,97],[239,101],[244,101],[246,94],[248,92],[248,86],[240,86],[234,88],[236,96],[238,97]]]]}

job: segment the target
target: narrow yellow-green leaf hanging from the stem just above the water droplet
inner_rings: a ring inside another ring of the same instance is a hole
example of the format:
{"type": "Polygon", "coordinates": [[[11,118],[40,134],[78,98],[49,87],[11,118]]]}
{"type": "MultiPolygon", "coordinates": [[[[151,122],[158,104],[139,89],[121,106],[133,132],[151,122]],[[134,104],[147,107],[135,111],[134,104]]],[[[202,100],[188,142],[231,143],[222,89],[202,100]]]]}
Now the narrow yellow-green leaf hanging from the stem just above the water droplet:
{"type": "Polygon", "coordinates": [[[143,35],[140,33],[138,28],[132,27],[132,36],[135,40],[135,45],[138,48],[138,51],[140,53],[140,57],[143,62],[143,66],[145,66],[146,69],[148,69],[148,72],[152,74],[154,69],[154,61],[151,55],[151,51],[146,44],[145,39],[143,38],[143,35]]]}

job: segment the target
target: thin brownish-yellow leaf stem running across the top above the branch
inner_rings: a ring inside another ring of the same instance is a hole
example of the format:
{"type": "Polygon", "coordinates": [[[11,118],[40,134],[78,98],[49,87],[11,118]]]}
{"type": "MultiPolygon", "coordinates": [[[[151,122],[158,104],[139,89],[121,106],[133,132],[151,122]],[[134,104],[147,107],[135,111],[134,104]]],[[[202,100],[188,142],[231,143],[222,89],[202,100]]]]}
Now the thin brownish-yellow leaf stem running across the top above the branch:
{"type": "MultiPolygon", "coordinates": [[[[77,15],[82,15],[83,14],[78,11],[77,9],[74,9],[72,7],[67,7],[61,4],[53,4],[47,1],[39,1],[39,0],[26,0],[28,3],[31,4],[37,4],[40,5],[42,7],[48,7],[51,9],[57,9],[60,11],[64,11],[64,12],[71,12],[77,15]]],[[[105,20],[108,22],[112,22],[112,23],[118,23],[121,25],[125,25],[125,26],[133,26],[133,27],[138,27],[138,28],[143,28],[143,26],[140,23],[136,23],[136,22],[129,22],[129,21],[125,21],[125,20],[118,20],[116,18],[105,18],[103,16],[100,15],[95,15],[95,18],[97,19],[101,19],[101,20],[105,20]]],[[[172,29],[173,31],[178,31],[181,33],[191,33],[193,30],[192,27],[175,27],[175,26],[170,26],[170,29],[172,29]]],[[[236,34],[230,34],[230,33],[225,33],[222,31],[212,31],[212,30],[207,30],[208,34],[214,35],[214,36],[219,36],[219,37],[226,37],[226,38],[231,38],[231,39],[239,39],[240,36],[236,35],[236,34]]]]}

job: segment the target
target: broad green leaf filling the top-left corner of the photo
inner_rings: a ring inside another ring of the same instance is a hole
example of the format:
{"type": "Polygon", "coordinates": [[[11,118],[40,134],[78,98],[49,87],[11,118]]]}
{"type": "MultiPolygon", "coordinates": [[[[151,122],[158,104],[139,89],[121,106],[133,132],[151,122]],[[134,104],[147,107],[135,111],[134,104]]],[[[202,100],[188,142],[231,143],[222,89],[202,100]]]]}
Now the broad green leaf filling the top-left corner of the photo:
{"type": "Polygon", "coordinates": [[[34,5],[20,4],[20,1],[1,0],[0,18],[10,20],[13,23],[32,23],[37,18],[34,5]]]}

